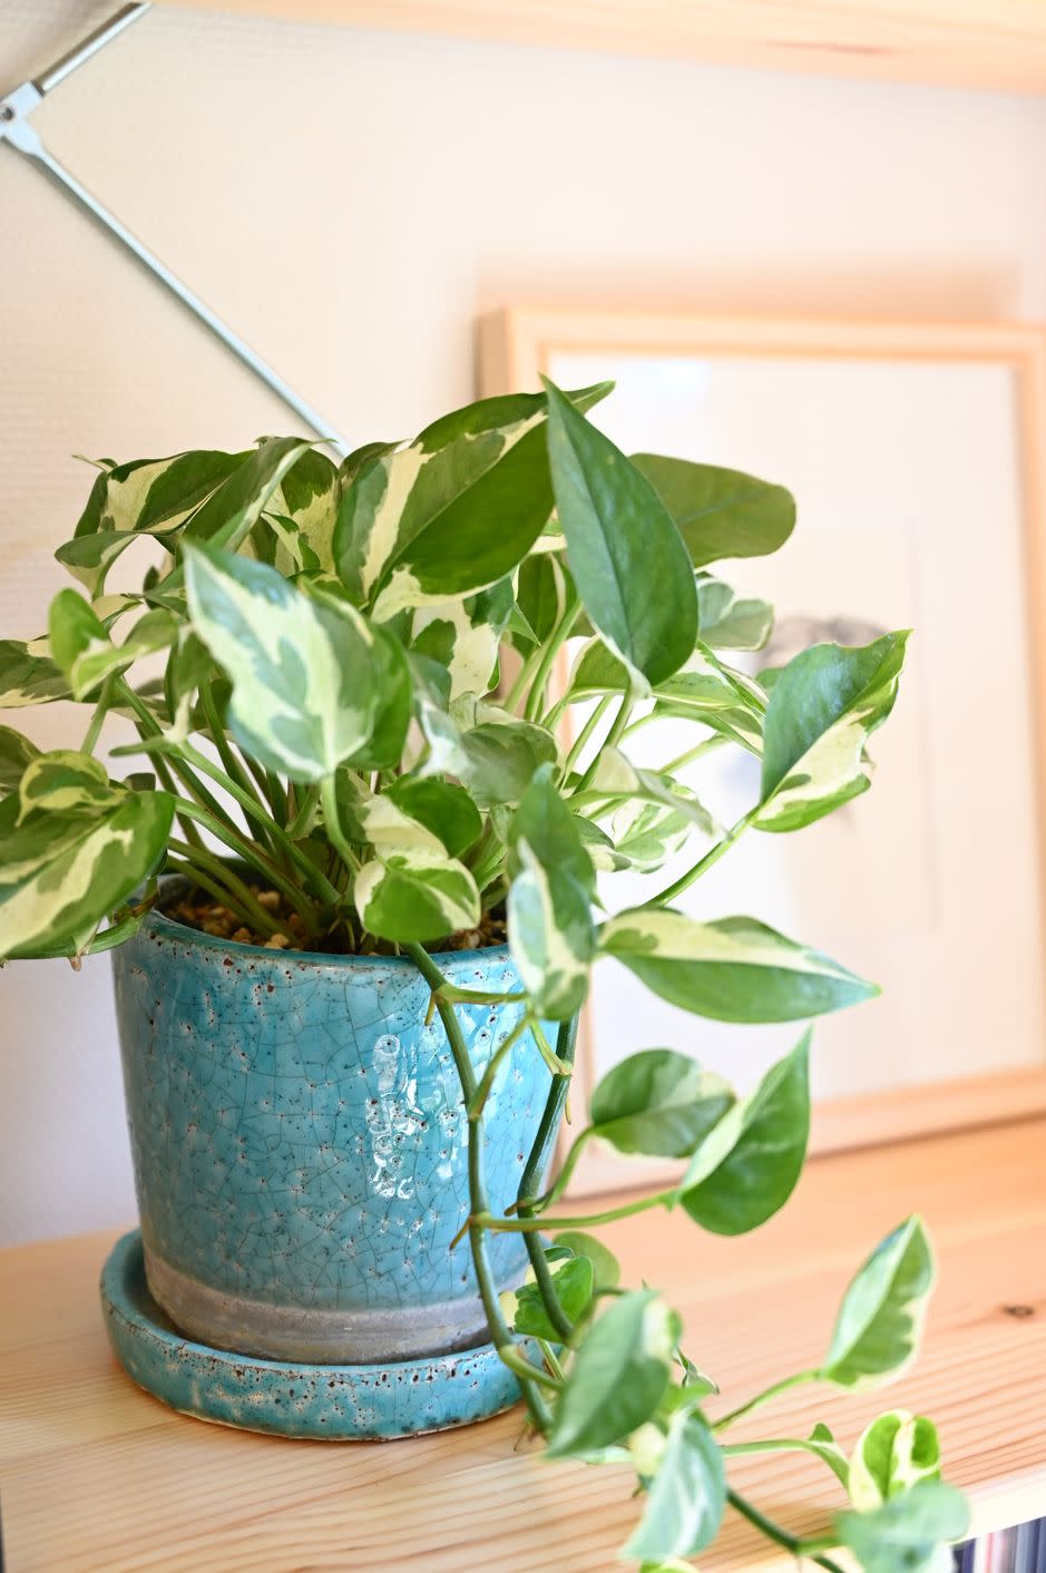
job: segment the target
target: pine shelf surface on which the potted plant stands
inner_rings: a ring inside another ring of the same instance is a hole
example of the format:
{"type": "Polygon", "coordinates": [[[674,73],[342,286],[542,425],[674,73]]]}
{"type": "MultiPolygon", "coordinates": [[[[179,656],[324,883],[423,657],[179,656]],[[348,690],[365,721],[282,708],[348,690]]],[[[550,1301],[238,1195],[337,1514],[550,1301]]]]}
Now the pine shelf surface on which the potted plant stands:
{"type": "MultiPolygon", "coordinates": [[[[867,1249],[908,1211],[941,1284],[919,1364],[886,1394],[799,1389],[753,1435],[826,1419],[849,1446],[893,1402],[941,1424],[982,1529],[1046,1513],[1046,1120],[819,1158],[777,1219],[714,1240],[684,1216],[607,1232],[665,1287],[686,1346],[736,1403],[824,1353],[867,1249]]],[[[602,1573],[637,1513],[617,1469],[547,1464],[519,1411],[400,1442],[299,1442],[165,1409],[109,1351],[96,1280],[115,1233],[0,1254],[0,1482],[9,1573],[602,1573]]],[[[823,1523],[813,1460],[744,1460],[736,1483],[796,1532],[823,1523]]],[[[824,1475],[824,1479],[823,1479],[824,1475]]],[[[702,1573],[791,1568],[728,1515],[702,1573]]]]}

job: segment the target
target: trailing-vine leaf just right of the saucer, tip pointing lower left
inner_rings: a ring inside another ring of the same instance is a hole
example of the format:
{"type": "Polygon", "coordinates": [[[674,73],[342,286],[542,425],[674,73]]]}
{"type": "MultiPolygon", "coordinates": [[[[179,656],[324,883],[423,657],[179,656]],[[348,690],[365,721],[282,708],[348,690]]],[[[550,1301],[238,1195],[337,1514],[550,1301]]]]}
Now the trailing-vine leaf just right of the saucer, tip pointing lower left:
{"type": "Polygon", "coordinates": [[[615,1299],[577,1350],[547,1457],[598,1452],[650,1420],[668,1386],[678,1337],[678,1317],[653,1290],[615,1299]]]}

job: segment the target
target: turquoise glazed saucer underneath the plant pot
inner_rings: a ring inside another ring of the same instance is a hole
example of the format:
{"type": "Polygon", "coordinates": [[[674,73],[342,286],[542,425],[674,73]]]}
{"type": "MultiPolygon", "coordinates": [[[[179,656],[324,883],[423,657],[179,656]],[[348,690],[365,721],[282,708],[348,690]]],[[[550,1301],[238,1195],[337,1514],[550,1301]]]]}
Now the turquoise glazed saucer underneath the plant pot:
{"type": "Polygon", "coordinates": [[[200,1420],[275,1436],[389,1439],[467,1425],[519,1402],[492,1343],[385,1365],[297,1365],[192,1343],[149,1295],[137,1229],[113,1246],[101,1291],[127,1375],[200,1420]]]}

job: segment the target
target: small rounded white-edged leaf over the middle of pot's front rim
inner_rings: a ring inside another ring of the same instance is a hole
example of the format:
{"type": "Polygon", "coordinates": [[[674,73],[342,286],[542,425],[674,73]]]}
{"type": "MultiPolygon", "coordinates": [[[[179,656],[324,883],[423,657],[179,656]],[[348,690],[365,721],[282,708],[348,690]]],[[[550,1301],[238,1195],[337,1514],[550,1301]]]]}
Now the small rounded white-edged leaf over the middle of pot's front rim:
{"type": "Polygon", "coordinates": [[[480,922],[475,879],[442,846],[382,851],[360,868],[354,897],[366,931],[400,944],[442,939],[480,922]]]}

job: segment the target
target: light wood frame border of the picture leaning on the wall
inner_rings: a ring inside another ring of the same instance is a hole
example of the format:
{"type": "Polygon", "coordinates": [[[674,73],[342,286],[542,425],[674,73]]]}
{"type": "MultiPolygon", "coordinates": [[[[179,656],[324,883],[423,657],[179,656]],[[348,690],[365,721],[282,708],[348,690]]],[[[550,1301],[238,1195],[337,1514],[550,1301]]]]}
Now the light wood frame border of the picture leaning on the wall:
{"type": "MultiPolygon", "coordinates": [[[[782,318],[653,315],[637,311],[517,310],[480,322],[480,387],[505,393],[540,387],[552,349],[760,357],[867,357],[870,360],[985,360],[1019,378],[1019,444],[1026,524],[1026,590],[1032,645],[1035,774],[1046,804],[1046,330],[1016,322],[876,322],[782,318]]],[[[565,683],[565,658],[560,681],[565,683]]],[[[569,714],[569,713],[568,713],[569,714]]],[[[566,722],[569,725],[569,720],[566,722]]],[[[1046,897],[1046,826],[1041,884],[1046,897]]],[[[1044,903],[1046,904],[1046,903],[1044,903]]],[[[1046,956],[1044,956],[1046,961],[1046,956]]],[[[584,1109],[595,1076],[590,1019],[579,1033],[576,1103],[584,1109]]],[[[813,1106],[812,1153],[993,1125],[1046,1111],[1046,1065],[934,1081],[890,1092],[829,1098],[813,1106]],[[933,1096],[928,1098],[928,1089],[933,1096]]],[[[653,1184],[675,1166],[631,1161],[595,1148],[579,1166],[574,1191],[653,1184]]]]}

